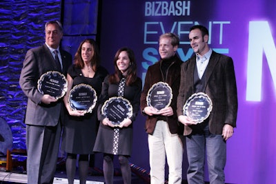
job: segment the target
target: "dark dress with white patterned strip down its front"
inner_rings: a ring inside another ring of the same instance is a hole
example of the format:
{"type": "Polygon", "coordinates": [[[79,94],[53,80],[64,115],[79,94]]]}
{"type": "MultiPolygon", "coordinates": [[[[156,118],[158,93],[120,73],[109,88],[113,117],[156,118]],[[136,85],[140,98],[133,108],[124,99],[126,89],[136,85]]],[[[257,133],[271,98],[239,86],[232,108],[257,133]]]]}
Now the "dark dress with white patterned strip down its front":
{"type": "MultiPolygon", "coordinates": [[[[118,96],[119,83],[110,84],[108,80],[109,76],[107,76],[106,79],[104,79],[103,88],[101,90],[101,102],[98,108],[99,121],[102,121],[105,118],[105,116],[101,114],[101,107],[103,103],[110,97],[118,96]]],[[[130,117],[132,123],[134,123],[135,118],[137,116],[137,112],[139,112],[141,88],[142,82],[140,78],[137,78],[135,83],[132,83],[132,85],[130,86],[124,85],[124,96],[122,97],[128,99],[128,101],[130,101],[132,105],[133,112],[132,116],[130,117]]],[[[115,154],[113,152],[115,146],[115,129],[119,129],[119,141],[117,143],[118,150],[116,154],[130,156],[132,153],[132,123],[128,127],[122,128],[113,128],[110,126],[103,125],[103,123],[100,123],[93,151],[107,154],[115,154]]]]}

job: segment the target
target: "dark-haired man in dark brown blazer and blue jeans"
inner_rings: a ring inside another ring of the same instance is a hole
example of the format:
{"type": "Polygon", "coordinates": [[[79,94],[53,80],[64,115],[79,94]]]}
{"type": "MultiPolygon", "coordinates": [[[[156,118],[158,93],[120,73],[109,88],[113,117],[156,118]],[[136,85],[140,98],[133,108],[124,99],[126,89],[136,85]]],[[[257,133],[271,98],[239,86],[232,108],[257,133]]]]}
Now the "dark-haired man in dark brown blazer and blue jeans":
{"type": "Polygon", "coordinates": [[[183,123],[188,156],[189,184],[204,184],[204,163],[208,163],[210,183],[224,183],[226,140],[233,136],[237,119],[237,87],[233,59],[208,46],[208,30],[190,28],[190,45],[195,56],[181,65],[177,116],[183,123]],[[202,123],[184,114],[184,104],[192,94],[204,92],[213,110],[202,123]],[[207,162],[205,162],[205,156],[207,162]]]}

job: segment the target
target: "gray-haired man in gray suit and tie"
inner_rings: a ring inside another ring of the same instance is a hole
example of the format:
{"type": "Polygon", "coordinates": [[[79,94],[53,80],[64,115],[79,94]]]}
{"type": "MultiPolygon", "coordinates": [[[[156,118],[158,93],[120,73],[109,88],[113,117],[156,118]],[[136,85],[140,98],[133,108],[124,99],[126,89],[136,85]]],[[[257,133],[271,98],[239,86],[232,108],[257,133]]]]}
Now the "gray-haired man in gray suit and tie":
{"type": "Polygon", "coordinates": [[[59,21],[45,25],[46,43],[28,50],[19,79],[24,94],[28,96],[26,110],[26,145],[28,184],[52,183],[57,165],[63,101],[37,90],[37,81],[48,71],[65,74],[72,56],[59,48],[63,29],[59,21]],[[57,50],[59,64],[55,61],[57,50]]]}

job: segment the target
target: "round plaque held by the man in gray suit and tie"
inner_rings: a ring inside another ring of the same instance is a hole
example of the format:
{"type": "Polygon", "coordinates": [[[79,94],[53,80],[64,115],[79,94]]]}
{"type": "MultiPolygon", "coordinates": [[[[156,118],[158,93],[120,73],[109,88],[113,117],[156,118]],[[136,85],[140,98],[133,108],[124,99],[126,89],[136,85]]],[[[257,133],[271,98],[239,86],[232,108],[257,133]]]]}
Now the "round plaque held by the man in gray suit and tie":
{"type": "Polygon", "coordinates": [[[42,94],[49,94],[56,99],[60,99],[67,91],[66,77],[57,71],[46,72],[42,74],[39,81],[37,81],[37,89],[42,94]]]}

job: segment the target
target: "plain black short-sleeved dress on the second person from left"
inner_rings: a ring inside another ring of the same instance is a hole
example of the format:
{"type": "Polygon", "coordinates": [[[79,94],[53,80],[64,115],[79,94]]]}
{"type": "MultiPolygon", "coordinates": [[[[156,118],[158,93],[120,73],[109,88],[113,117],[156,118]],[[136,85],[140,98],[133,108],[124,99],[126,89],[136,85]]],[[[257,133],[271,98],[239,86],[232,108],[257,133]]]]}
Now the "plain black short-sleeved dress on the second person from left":
{"type": "MultiPolygon", "coordinates": [[[[103,79],[108,75],[108,71],[100,66],[94,77],[88,78],[83,76],[81,69],[71,65],[68,74],[73,79],[72,88],[81,83],[91,85],[99,99],[103,79]]],[[[61,150],[71,154],[92,154],[98,125],[97,105],[92,113],[86,113],[84,116],[70,116],[67,112],[63,125],[61,150]]]]}

